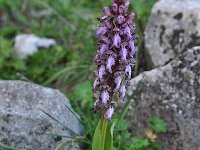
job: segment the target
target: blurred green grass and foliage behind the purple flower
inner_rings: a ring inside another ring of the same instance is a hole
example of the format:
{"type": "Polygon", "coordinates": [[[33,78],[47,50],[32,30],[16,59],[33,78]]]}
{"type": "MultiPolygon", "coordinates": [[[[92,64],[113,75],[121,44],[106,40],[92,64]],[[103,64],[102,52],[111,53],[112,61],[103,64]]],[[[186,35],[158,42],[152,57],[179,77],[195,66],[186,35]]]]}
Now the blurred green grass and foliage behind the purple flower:
{"type": "MultiPolygon", "coordinates": [[[[135,75],[151,68],[143,33],[155,2],[131,1],[130,11],[136,12],[136,33],[140,36],[135,75]]],[[[80,115],[86,139],[90,142],[99,117],[90,111],[94,101],[96,18],[102,16],[102,8],[109,5],[109,0],[0,0],[0,79],[26,80],[61,90],[80,115]],[[49,13],[40,15],[44,11],[49,13]],[[15,36],[24,33],[53,38],[57,44],[21,60],[13,57],[13,45],[15,36]]],[[[123,120],[117,127],[116,149],[130,147],[128,145],[135,138],[128,132],[130,126],[123,120]]],[[[83,147],[90,149],[90,142],[84,143],[83,147]]],[[[150,149],[145,138],[138,138],[135,142],[150,149]]]]}

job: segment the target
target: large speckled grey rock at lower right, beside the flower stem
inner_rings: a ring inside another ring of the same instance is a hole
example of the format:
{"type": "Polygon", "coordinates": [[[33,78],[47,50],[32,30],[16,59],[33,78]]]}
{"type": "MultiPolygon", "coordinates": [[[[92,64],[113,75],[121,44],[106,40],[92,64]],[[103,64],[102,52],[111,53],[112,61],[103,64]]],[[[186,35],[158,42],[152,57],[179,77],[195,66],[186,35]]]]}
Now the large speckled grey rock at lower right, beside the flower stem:
{"type": "Polygon", "coordinates": [[[137,112],[134,133],[143,133],[150,117],[160,117],[168,124],[168,132],[158,138],[166,150],[200,150],[200,47],[140,74],[128,94],[137,112]]]}

